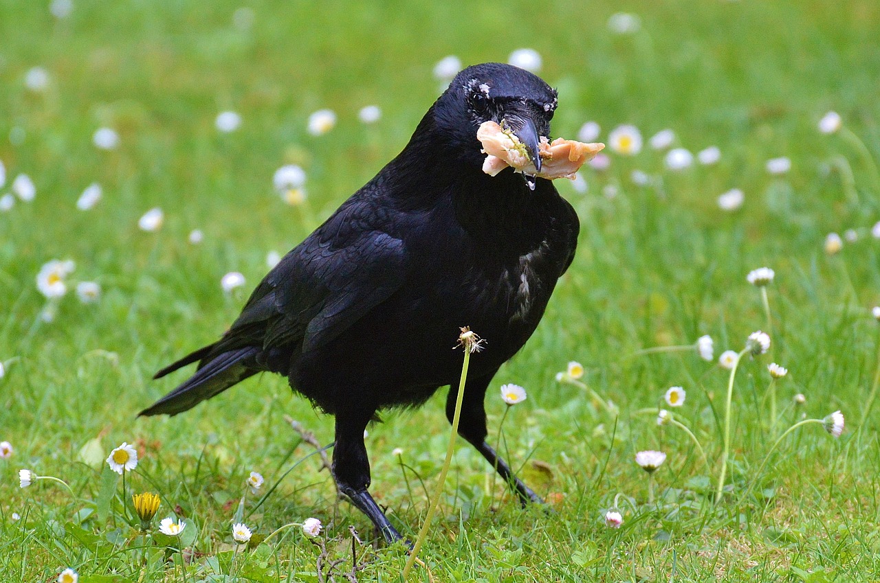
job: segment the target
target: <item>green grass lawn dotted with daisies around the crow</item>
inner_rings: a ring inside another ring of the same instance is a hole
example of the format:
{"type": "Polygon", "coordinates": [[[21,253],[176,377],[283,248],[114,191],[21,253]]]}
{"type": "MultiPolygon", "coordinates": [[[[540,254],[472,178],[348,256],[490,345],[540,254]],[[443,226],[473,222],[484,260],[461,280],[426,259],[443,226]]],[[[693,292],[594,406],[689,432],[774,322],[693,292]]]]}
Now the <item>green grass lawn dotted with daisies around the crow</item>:
{"type": "MultiPolygon", "coordinates": [[[[880,7],[627,6],[642,18],[631,35],[607,30],[613,10],[602,4],[254,1],[246,4],[253,25],[240,28],[232,24],[240,5],[224,0],[82,0],[62,20],[44,3],[0,0],[0,160],[9,174],[0,195],[21,172],[37,187],[32,203],[0,213],[0,440],[15,448],[0,460],[0,576],[47,581],[71,566],[83,582],[308,581],[319,580],[320,561],[326,574],[341,560],[341,580],[354,549],[359,579],[399,580],[404,550],[369,543],[370,523],[337,503],[319,456],[305,458],[314,448],[285,417],[320,444],[333,439],[332,419],[291,396],[283,379],[260,376],[173,419],[134,416],[180,378],[151,382],[155,370],[238,314],[266,272],[267,251],[297,244],[407,142],[438,94],[437,60],[503,61],[529,46],[560,90],[556,135],[575,137],[586,120],[599,122],[603,139],[620,123],[646,136],[672,128],[680,145],[717,145],[722,159],[673,173],[646,148],[613,157],[608,171],[585,171],[589,193],[559,185],[582,221],[575,263],[488,394],[495,435],[506,409],[498,387],[528,390],[505,419],[500,448],[555,512],[520,510],[480,456],[460,446],[420,557],[436,580],[451,581],[876,580],[876,404],[861,421],[880,343],[869,312],[880,302],[880,243],[869,234],[880,219],[880,7]],[[34,66],[50,75],[45,91],[25,87],[34,66]],[[356,112],[370,104],[383,118],[364,126],[356,112]],[[320,107],[339,123],[313,137],[305,122],[320,107]],[[224,109],[242,114],[238,131],[216,132],[224,109]],[[832,109],[846,131],[822,135],[816,124],[832,109]],[[93,147],[101,126],[119,132],[118,149],[93,147]],[[766,160],[779,156],[792,170],[771,176],[766,160]],[[308,172],[307,207],[273,192],[272,174],[286,163],[308,172]],[[654,184],[635,186],[635,169],[654,184]],[[95,181],[103,200],[77,211],[95,181]],[[715,200],[734,187],[744,206],[724,212],[715,200]],[[137,230],[156,206],[163,228],[137,230]],[[200,245],[187,243],[195,228],[205,234],[200,245]],[[847,229],[858,241],[826,255],[825,236],[847,229]],[[42,322],[46,300],[34,278],[49,259],[75,260],[70,281],[99,281],[100,301],[81,304],[70,293],[55,321],[42,322]],[[702,334],[715,339],[716,354],[741,350],[766,327],[759,290],[744,280],[763,265],[776,272],[772,354],[745,358],[737,371],[728,478],[715,503],[727,372],[695,351],[633,353],[702,334]],[[224,295],[220,278],[233,270],[247,286],[224,295]],[[775,389],[776,434],[802,413],[840,409],[839,440],[807,425],[766,457],[771,358],[789,369],[775,389]],[[619,416],[583,387],[555,382],[568,361],[583,364],[581,381],[619,416]],[[672,385],[687,391],[674,416],[700,440],[709,469],[687,434],[655,423],[672,385]],[[793,404],[796,393],[803,406],[793,404]],[[124,521],[113,498],[121,484],[102,461],[121,441],[141,454],[129,492],[158,493],[159,518],[175,508],[186,518],[184,553],[124,521]],[[654,504],[634,463],[649,448],[668,455],[654,474],[654,504]],[[20,489],[21,468],[62,478],[73,494],[48,481],[20,489]],[[271,490],[259,507],[245,485],[252,470],[267,479],[259,495],[271,490]],[[620,529],[603,521],[614,506],[620,529]],[[253,528],[256,543],[310,516],[325,524],[318,539],[287,528],[253,550],[231,540],[233,518],[253,528]]],[[[438,391],[421,410],[369,429],[371,491],[411,538],[449,439],[444,397],[438,391]]],[[[427,572],[416,566],[414,576],[427,572]]]]}

